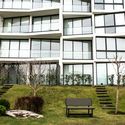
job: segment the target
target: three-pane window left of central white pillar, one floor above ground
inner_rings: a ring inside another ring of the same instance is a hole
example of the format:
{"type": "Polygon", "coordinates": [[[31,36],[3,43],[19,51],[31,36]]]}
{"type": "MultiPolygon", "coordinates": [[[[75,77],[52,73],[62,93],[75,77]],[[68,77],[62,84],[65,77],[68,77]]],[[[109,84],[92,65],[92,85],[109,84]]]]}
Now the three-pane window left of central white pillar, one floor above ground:
{"type": "Polygon", "coordinates": [[[60,42],[59,40],[40,40],[32,39],[31,57],[59,57],[60,42]]]}

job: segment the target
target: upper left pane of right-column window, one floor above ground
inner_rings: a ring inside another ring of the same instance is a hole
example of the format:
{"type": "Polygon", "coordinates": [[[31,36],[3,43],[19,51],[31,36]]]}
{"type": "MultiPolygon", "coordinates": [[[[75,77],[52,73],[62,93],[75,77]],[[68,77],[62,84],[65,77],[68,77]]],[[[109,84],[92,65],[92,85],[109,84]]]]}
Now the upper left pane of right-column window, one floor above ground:
{"type": "Polygon", "coordinates": [[[96,38],[97,50],[105,50],[105,38],[96,38]]]}

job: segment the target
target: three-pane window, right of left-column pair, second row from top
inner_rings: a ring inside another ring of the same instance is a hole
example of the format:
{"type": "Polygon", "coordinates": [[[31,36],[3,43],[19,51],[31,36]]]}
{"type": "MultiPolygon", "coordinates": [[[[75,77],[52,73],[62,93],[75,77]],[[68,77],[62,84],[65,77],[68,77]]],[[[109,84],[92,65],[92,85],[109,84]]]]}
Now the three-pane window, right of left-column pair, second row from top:
{"type": "Polygon", "coordinates": [[[46,16],[33,18],[33,32],[59,30],[59,16],[46,16]]]}

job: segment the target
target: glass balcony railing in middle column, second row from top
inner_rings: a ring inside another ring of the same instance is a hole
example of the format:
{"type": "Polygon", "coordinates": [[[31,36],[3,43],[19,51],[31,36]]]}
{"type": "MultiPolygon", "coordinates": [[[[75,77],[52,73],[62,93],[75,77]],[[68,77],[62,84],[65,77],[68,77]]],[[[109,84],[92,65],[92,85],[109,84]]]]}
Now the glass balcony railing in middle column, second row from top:
{"type": "Polygon", "coordinates": [[[65,35],[81,35],[81,34],[92,34],[92,27],[65,27],[64,28],[65,35]]]}

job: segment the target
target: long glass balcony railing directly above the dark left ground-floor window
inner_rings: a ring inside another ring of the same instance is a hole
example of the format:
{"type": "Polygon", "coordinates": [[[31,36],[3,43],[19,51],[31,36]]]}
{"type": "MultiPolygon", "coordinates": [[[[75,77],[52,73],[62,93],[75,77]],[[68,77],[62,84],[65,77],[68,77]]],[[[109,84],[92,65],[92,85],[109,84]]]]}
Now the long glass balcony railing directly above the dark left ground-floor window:
{"type": "Polygon", "coordinates": [[[0,58],[58,58],[60,51],[40,51],[40,50],[0,50],[0,58]]]}

